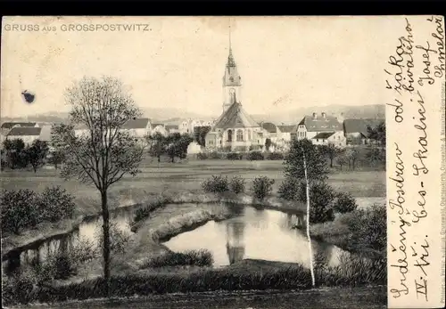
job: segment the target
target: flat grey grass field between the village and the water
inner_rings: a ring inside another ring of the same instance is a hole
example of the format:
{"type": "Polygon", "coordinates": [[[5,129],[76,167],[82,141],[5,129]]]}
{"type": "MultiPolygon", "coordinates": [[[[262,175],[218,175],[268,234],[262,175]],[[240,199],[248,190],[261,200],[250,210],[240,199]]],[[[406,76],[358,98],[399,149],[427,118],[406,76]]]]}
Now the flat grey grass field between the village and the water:
{"type": "MultiPolygon", "coordinates": [[[[274,190],[284,179],[282,161],[248,161],[248,160],[196,160],[180,163],[146,162],[141,173],[136,177],[124,177],[115,183],[109,193],[110,207],[134,204],[147,196],[178,192],[198,192],[201,183],[211,175],[241,175],[248,187],[256,176],[267,175],[276,180],[274,190]]],[[[32,171],[8,170],[0,174],[4,189],[31,189],[43,191],[45,187],[61,185],[77,199],[79,214],[99,211],[99,194],[93,185],[78,183],[76,180],[63,181],[59,171],[40,169],[32,171]]],[[[333,171],[328,183],[335,190],[348,191],[354,197],[384,197],[384,171],[333,171]]]]}

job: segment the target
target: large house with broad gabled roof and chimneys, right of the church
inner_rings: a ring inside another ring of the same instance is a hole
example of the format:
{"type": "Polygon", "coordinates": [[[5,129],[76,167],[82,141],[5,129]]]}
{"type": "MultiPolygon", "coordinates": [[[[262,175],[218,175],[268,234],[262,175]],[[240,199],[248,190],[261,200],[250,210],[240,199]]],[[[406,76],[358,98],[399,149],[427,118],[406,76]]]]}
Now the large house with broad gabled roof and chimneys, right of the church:
{"type": "Polygon", "coordinates": [[[317,134],[335,132],[343,134],[343,125],[338,121],[338,118],[327,116],[325,112],[320,116],[317,113],[313,113],[312,116],[305,116],[301,119],[301,122],[297,125],[295,138],[312,141],[317,134]]]}

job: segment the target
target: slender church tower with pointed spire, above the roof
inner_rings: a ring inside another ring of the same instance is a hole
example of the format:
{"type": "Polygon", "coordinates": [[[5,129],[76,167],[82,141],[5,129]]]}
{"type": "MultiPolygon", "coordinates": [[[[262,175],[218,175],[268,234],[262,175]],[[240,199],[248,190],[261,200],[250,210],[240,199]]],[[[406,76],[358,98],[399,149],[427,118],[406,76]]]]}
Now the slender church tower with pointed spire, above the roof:
{"type": "Polygon", "coordinates": [[[223,113],[234,103],[240,102],[242,77],[238,74],[231,48],[231,26],[229,25],[229,55],[223,77],[223,113]]]}

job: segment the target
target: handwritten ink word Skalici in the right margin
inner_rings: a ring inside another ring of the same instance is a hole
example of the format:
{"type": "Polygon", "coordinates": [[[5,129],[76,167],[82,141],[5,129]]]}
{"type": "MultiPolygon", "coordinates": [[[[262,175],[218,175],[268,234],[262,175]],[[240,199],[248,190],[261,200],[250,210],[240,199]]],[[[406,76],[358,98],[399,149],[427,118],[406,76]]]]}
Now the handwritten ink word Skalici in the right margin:
{"type": "Polygon", "coordinates": [[[418,132],[420,132],[420,136],[418,137],[418,145],[420,146],[420,149],[417,150],[417,152],[414,152],[413,156],[414,158],[418,159],[417,164],[412,165],[412,167],[414,168],[414,173],[413,175],[420,175],[420,172],[423,172],[423,174],[427,174],[429,172],[429,170],[427,169],[427,167],[425,167],[425,159],[427,158],[426,153],[427,153],[427,132],[426,132],[426,128],[427,125],[425,124],[425,101],[423,100],[423,97],[421,96],[421,94],[419,93],[419,91],[417,91],[418,94],[418,105],[419,105],[419,109],[418,109],[418,122],[419,124],[415,125],[415,128],[418,130],[418,132]]]}

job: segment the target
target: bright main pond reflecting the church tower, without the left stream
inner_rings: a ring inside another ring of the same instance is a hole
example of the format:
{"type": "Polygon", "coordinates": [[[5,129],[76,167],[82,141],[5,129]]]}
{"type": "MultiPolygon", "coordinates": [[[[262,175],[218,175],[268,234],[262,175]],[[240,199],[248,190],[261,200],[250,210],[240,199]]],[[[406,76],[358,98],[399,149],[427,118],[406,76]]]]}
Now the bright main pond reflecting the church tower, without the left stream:
{"type": "MultiPolygon", "coordinates": [[[[306,215],[257,207],[237,207],[235,216],[208,222],[191,232],[183,232],[163,244],[182,252],[205,248],[214,257],[214,266],[234,264],[243,259],[261,259],[310,266],[310,252],[304,226],[306,215]]],[[[343,250],[311,240],[313,255],[320,262],[335,265],[343,250]]]]}

